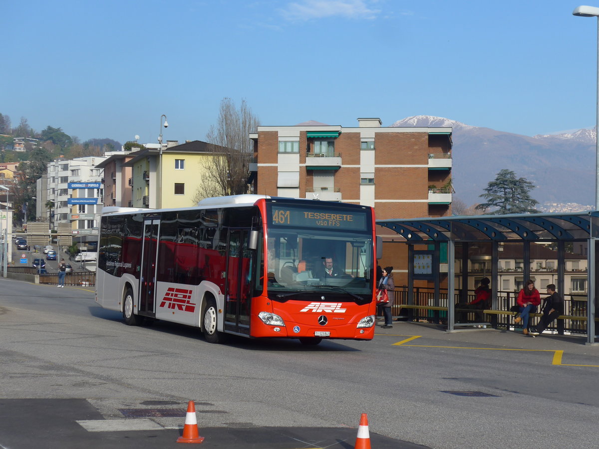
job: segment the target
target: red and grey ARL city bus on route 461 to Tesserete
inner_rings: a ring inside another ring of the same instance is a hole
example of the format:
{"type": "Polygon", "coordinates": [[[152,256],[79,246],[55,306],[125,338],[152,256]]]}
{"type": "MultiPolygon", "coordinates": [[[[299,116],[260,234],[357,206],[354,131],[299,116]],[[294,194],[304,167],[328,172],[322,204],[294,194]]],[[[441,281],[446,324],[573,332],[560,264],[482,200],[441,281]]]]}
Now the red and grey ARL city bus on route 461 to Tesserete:
{"type": "Polygon", "coordinates": [[[196,326],[226,334],[369,340],[376,310],[371,207],[261,195],[197,207],[106,207],[96,302],[126,324],[196,326]],[[323,276],[325,261],[335,275],[323,276]]]}

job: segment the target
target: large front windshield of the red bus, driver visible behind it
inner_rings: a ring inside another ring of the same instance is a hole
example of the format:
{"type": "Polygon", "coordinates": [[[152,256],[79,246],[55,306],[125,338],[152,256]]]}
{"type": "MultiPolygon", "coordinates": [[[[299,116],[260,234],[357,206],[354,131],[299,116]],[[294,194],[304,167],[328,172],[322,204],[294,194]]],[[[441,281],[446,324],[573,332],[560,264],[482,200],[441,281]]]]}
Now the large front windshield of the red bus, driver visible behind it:
{"type": "Polygon", "coordinates": [[[338,301],[372,300],[371,234],[271,228],[266,259],[267,290],[273,301],[312,301],[323,293],[338,296],[338,301]]]}

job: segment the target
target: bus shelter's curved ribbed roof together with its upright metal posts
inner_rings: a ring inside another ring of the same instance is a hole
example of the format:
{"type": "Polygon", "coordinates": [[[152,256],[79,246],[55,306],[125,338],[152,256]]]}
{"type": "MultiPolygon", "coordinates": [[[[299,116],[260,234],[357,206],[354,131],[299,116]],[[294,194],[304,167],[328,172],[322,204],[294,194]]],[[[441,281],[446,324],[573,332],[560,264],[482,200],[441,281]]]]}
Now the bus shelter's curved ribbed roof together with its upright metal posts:
{"type": "MultiPolygon", "coordinates": [[[[482,216],[425,217],[418,219],[376,220],[379,226],[387,227],[406,239],[408,245],[434,244],[438,252],[440,245],[447,243],[447,260],[454,260],[447,265],[447,292],[455,292],[455,244],[468,242],[492,242],[493,251],[497,251],[499,242],[524,242],[522,255],[524,260],[530,257],[531,242],[558,241],[558,290],[564,288],[564,245],[567,241],[588,240],[588,292],[586,292],[586,333],[587,344],[595,343],[595,277],[599,264],[599,211],[552,214],[507,214],[482,216]],[[559,247],[561,247],[561,254],[559,247]],[[559,268],[561,266],[561,269],[559,268]]],[[[409,250],[410,251],[410,250],[409,250]]],[[[412,249],[412,251],[414,251],[412,249]]],[[[491,256],[491,254],[489,254],[491,256]]],[[[438,257],[438,256],[437,256],[438,257]]],[[[439,263],[438,259],[437,262],[439,263]]],[[[408,301],[413,303],[413,260],[408,258],[408,301]],[[412,265],[410,265],[412,264],[412,265]]],[[[433,264],[434,265],[434,264],[433,264]]],[[[528,262],[522,275],[528,276],[528,262]]],[[[438,274],[438,271],[436,272],[438,274]]],[[[491,274],[497,275],[497,260],[492,260],[491,274]]],[[[462,277],[467,276],[462,273],[462,277]]],[[[438,305],[440,277],[432,275],[434,282],[434,301],[438,305]]],[[[494,295],[497,293],[497,282],[492,282],[494,295]]],[[[462,289],[462,292],[465,290],[462,289]]],[[[494,304],[497,307],[497,304],[494,304]]],[[[455,304],[447,303],[447,331],[454,332],[455,304]]],[[[463,324],[461,324],[463,326],[463,324]]]]}

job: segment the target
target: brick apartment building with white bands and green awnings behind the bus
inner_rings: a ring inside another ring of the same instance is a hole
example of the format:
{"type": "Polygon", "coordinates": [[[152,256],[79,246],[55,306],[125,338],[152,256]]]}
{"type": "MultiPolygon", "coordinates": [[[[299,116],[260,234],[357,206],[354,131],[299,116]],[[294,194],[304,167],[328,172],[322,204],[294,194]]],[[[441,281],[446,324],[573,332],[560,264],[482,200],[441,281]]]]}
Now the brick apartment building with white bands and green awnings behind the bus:
{"type": "MultiPolygon", "coordinates": [[[[377,219],[449,216],[452,128],[381,125],[365,118],[354,128],[259,126],[250,135],[254,192],[367,205],[377,219]]],[[[406,245],[390,247],[399,236],[378,231],[386,241],[381,265],[398,267],[406,245]]]]}

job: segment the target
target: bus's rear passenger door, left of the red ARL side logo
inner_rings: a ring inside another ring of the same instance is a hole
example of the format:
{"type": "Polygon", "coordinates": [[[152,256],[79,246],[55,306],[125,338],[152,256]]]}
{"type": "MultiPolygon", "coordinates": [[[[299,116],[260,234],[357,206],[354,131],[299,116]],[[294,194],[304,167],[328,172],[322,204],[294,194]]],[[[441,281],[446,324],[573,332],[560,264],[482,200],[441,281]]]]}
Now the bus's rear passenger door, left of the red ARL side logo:
{"type": "Polygon", "coordinates": [[[160,220],[144,221],[144,238],[141,246],[140,302],[138,312],[156,316],[156,256],[160,220]]]}

